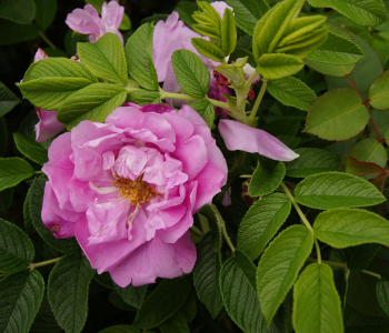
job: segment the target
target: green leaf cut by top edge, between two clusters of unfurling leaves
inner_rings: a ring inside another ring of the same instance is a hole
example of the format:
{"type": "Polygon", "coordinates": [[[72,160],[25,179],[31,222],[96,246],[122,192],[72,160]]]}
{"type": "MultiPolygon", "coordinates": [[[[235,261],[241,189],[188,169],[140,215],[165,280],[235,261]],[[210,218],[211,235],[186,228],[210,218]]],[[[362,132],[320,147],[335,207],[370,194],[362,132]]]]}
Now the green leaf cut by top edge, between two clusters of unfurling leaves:
{"type": "Polygon", "coordinates": [[[269,10],[265,0],[227,0],[226,3],[233,8],[237,26],[251,36],[258,20],[269,10]]]}

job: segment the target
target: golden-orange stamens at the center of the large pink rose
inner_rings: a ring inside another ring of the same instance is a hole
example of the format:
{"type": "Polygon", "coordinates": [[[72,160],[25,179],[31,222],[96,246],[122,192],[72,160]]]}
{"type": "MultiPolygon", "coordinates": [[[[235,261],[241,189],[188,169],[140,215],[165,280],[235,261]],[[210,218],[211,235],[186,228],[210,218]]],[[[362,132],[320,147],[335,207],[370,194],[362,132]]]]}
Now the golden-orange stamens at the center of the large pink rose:
{"type": "Polygon", "coordinates": [[[141,203],[148,202],[151,198],[160,195],[142,181],[142,174],[132,181],[126,178],[117,178],[113,185],[119,189],[120,195],[131,201],[132,205],[140,206],[141,203]]]}

